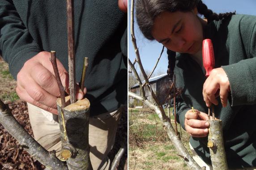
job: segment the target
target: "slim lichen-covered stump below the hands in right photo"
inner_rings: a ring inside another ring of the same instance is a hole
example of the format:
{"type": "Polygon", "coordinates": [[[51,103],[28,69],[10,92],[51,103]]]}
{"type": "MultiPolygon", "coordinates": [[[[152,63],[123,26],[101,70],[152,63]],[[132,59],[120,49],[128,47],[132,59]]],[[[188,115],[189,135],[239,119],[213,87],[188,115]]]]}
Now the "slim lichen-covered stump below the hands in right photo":
{"type": "Polygon", "coordinates": [[[213,170],[228,170],[226,152],[224,148],[222,120],[208,120],[209,135],[208,144],[213,170]]]}

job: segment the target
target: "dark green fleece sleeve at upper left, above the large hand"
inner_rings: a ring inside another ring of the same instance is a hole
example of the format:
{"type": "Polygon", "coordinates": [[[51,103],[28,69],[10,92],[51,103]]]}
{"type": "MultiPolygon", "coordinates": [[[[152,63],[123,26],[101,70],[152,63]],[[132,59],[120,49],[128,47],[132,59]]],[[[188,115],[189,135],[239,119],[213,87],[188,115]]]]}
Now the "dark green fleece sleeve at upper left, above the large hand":
{"type": "Polygon", "coordinates": [[[15,79],[23,64],[40,51],[13,1],[0,0],[0,55],[9,63],[9,70],[15,79]]]}

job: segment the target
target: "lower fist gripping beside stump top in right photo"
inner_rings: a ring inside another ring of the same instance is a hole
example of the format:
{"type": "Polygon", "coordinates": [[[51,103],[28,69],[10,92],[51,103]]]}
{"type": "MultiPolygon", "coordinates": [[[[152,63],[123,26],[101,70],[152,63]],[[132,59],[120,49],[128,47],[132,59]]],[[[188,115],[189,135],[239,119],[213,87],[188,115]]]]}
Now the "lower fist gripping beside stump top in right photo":
{"type": "Polygon", "coordinates": [[[185,128],[190,136],[205,137],[208,135],[208,115],[198,110],[188,110],[185,115],[185,128]]]}

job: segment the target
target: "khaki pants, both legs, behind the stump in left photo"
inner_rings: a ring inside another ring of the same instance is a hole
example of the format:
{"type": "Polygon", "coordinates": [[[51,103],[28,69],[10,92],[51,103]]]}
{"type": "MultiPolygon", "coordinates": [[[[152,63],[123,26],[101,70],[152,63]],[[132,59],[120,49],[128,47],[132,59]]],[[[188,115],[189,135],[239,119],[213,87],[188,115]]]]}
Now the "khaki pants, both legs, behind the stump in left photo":
{"type": "MultiPolygon", "coordinates": [[[[34,139],[48,151],[56,150],[60,157],[61,140],[58,116],[34,105],[28,104],[30,124],[34,139]]],[[[110,160],[107,154],[115,144],[115,133],[123,108],[90,118],[89,144],[90,161],[94,170],[108,170],[110,160]]]]}

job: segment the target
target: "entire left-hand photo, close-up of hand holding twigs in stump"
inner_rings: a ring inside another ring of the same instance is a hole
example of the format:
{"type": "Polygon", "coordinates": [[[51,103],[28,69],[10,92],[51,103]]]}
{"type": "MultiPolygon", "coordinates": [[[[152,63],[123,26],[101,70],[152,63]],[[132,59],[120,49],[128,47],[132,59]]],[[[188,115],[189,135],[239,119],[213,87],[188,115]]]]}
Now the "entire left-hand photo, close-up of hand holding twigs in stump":
{"type": "Polygon", "coordinates": [[[127,12],[0,0],[0,169],[128,169],[127,12]]]}

